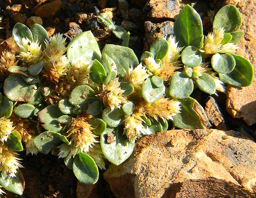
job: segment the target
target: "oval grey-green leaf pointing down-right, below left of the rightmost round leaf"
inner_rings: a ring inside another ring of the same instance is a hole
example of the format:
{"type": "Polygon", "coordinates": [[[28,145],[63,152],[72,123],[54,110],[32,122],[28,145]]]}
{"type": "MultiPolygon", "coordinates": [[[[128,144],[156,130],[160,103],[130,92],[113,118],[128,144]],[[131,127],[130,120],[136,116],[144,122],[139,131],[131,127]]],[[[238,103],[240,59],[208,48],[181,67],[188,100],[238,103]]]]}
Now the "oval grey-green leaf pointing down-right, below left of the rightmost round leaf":
{"type": "Polygon", "coordinates": [[[198,79],[195,79],[198,88],[205,93],[214,94],[216,91],[216,85],[214,79],[209,74],[202,74],[198,79]]]}

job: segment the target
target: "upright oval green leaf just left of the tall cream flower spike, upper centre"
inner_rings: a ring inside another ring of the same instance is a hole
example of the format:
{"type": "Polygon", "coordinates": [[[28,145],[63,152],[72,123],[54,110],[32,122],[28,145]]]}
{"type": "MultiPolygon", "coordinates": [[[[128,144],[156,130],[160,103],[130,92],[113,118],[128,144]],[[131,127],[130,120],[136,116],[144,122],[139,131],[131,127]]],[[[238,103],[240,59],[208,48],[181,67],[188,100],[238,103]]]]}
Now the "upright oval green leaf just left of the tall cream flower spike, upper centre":
{"type": "Polygon", "coordinates": [[[150,47],[150,52],[153,54],[154,59],[163,59],[168,51],[168,42],[163,38],[157,38],[150,47]]]}

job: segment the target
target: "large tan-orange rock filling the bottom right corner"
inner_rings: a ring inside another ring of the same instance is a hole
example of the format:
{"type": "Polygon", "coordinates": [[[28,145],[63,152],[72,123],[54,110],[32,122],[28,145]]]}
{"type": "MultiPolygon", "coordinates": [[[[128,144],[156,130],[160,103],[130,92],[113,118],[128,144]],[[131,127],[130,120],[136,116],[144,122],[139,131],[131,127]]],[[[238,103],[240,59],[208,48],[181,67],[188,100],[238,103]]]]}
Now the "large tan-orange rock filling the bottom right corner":
{"type": "Polygon", "coordinates": [[[122,198],[255,198],[255,153],[239,132],[169,130],[143,137],[104,178],[122,198]]]}

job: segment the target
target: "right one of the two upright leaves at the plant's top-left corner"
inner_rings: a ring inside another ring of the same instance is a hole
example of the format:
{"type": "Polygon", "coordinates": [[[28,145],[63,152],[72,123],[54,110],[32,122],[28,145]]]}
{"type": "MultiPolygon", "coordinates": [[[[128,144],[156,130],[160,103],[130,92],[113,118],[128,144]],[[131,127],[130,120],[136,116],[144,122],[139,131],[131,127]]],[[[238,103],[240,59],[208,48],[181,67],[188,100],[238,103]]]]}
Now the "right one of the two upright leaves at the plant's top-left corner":
{"type": "Polygon", "coordinates": [[[48,33],[42,25],[35,23],[31,28],[32,36],[34,41],[39,42],[41,48],[45,48],[45,41],[48,40],[48,33]]]}

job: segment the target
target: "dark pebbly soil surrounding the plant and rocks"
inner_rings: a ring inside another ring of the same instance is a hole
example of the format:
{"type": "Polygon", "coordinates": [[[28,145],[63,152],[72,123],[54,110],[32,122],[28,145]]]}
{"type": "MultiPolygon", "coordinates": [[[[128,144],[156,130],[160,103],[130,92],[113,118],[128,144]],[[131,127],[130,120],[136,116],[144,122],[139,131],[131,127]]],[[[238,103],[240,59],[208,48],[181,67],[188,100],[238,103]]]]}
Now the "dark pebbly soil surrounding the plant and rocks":
{"type": "MultiPolygon", "coordinates": [[[[59,0],[57,0],[59,1],[59,0]]],[[[26,20],[35,16],[36,8],[46,3],[52,3],[52,0],[0,0],[0,16],[3,17],[3,22],[0,27],[0,43],[12,36],[12,28],[17,22],[27,25],[26,20]],[[18,5],[18,6],[17,6],[18,5]],[[22,6],[19,6],[22,5],[22,6]]],[[[187,1],[186,1],[187,2],[187,1]]],[[[222,5],[222,0],[198,0],[192,1],[202,4],[196,5],[196,9],[201,14],[205,33],[211,30],[210,18],[207,17],[207,11],[213,13],[222,5]],[[207,11],[204,8],[207,8],[207,11]]],[[[57,2],[58,3],[58,2],[57,2]]],[[[49,10],[42,17],[42,25],[47,28],[48,33],[61,33],[67,37],[69,42],[76,34],[81,31],[91,30],[99,42],[102,49],[105,44],[120,44],[121,41],[113,34],[105,31],[105,29],[96,20],[95,7],[101,12],[107,12],[105,8],[110,9],[108,14],[113,14],[113,21],[116,25],[122,25],[131,32],[130,48],[134,50],[138,57],[146,49],[144,44],[146,35],[144,22],[151,21],[152,23],[162,23],[166,21],[164,18],[151,18],[148,16],[148,7],[145,6],[146,0],[61,0],[61,6],[57,12],[49,10]],[[52,11],[52,12],[51,12],[52,11]],[[53,15],[52,15],[53,14],[53,15]]],[[[169,19],[172,21],[172,19],[169,19]]],[[[207,94],[193,93],[195,99],[203,106],[207,94]]],[[[225,110],[225,94],[219,94],[219,97],[214,97],[227,124],[228,130],[243,130],[249,135],[254,133],[253,127],[247,126],[242,119],[233,119],[225,110]]],[[[26,188],[22,198],[76,198],[77,180],[73,175],[73,171],[69,170],[63,160],[58,159],[53,155],[38,154],[37,156],[28,155],[21,152],[23,175],[26,181],[26,188]]],[[[108,167],[108,164],[107,164],[108,167]]],[[[114,198],[106,181],[100,173],[99,184],[96,189],[99,189],[99,197],[114,198]]],[[[19,196],[8,193],[5,198],[17,198],[19,196]]]]}

